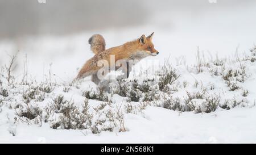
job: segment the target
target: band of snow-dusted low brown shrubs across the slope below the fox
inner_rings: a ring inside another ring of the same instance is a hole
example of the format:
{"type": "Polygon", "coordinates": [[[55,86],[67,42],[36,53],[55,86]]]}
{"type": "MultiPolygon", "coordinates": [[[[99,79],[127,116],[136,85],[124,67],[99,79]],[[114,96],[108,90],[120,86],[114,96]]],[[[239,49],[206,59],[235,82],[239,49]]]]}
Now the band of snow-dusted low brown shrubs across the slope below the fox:
{"type": "MultiPolygon", "coordinates": [[[[98,134],[127,131],[125,115],[143,114],[149,106],[180,113],[246,107],[255,104],[249,100],[254,92],[246,83],[255,76],[249,69],[255,65],[255,53],[256,47],[250,56],[230,62],[216,58],[187,68],[164,65],[152,77],[109,81],[109,92],[104,85],[86,88],[82,82],[11,81],[9,85],[1,77],[5,82],[0,82],[0,112],[13,111],[9,119],[15,125],[48,123],[52,129],[98,134]]],[[[13,129],[10,133],[16,135],[13,129]]]]}

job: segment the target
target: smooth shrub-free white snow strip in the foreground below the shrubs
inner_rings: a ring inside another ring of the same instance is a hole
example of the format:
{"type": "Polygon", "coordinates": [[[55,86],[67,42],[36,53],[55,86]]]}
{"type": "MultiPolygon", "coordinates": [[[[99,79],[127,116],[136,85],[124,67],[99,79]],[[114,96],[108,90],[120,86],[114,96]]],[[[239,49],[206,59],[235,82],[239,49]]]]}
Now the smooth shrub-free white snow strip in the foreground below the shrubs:
{"type": "Polygon", "coordinates": [[[1,143],[255,143],[255,107],[214,114],[179,113],[159,107],[143,112],[144,118],[126,115],[128,132],[86,136],[79,130],[49,129],[47,124],[20,124],[16,136],[11,136],[1,122],[1,143]]]}

